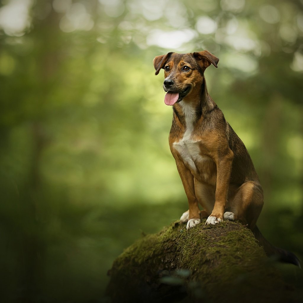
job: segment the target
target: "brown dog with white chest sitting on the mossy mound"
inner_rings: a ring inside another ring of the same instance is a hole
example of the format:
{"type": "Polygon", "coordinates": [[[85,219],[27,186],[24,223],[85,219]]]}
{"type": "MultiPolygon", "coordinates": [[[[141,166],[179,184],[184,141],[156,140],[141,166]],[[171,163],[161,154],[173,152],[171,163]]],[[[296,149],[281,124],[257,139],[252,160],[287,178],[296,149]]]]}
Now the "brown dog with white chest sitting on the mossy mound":
{"type": "Polygon", "coordinates": [[[263,189],[245,145],[226,122],[207,92],[205,69],[219,59],[208,51],[154,58],[155,74],[164,69],[164,102],[173,107],[169,146],[188,198],[180,218],[193,228],[224,219],[239,220],[254,233],[267,255],[300,266],[291,252],[271,245],[256,222],[263,207],[263,189]],[[200,211],[198,204],[204,210],[200,211]]]}

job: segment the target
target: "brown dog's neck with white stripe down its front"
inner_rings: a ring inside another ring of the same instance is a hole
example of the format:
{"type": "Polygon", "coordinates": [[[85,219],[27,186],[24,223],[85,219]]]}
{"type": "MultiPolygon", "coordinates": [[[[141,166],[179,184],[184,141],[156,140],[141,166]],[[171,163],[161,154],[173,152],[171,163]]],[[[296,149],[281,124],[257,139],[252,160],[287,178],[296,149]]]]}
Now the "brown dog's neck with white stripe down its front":
{"type": "Polygon", "coordinates": [[[208,95],[205,78],[203,78],[199,89],[194,88],[188,96],[173,106],[174,118],[186,128],[203,118],[203,115],[215,106],[215,102],[208,95]]]}

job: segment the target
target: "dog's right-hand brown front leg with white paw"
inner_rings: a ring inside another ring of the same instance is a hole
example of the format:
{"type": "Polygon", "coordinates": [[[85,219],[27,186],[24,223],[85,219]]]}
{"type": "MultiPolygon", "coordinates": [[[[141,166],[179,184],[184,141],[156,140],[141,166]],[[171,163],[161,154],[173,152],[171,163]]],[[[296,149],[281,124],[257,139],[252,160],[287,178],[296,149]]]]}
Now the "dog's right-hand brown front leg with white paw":
{"type": "Polygon", "coordinates": [[[224,156],[218,157],[215,205],[210,216],[206,220],[206,225],[223,221],[233,155],[233,152],[228,149],[224,156]]]}

